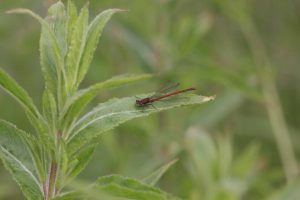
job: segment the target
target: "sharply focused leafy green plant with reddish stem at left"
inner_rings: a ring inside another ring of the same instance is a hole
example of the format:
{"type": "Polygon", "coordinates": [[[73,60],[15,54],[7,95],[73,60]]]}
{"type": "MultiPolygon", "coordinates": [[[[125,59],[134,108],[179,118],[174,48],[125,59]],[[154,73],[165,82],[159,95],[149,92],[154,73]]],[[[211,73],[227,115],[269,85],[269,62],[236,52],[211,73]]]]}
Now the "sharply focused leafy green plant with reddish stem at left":
{"type": "MultiPolygon", "coordinates": [[[[66,186],[85,168],[103,133],[133,118],[213,99],[186,95],[184,99],[158,102],[156,109],[141,109],[135,106],[135,97],[114,98],[82,114],[101,90],[151,77],[149,74],[121,75],[78,89],[104,26],[120,11],[105,10],[90,23],[88,5],[77,14],[72,1],[68,1],[67,8],[58,1],[49,8],[45,19],[27,9],[8,11],[28,14],[42,27],[40,61],[45,79],[42,112],[28,93],[0,70],[1,87],[20,103],[35,128],[35,133],[27,133],[9,122],[0,121],[0,157],[27,199],[78,198],[80,190],[69,191],[66,186]]],[[[100,177],[93,190],[117,198],[175,199],[153,187],[170,165],[151,174],[145,182],[118,175],[100,177]]]]}

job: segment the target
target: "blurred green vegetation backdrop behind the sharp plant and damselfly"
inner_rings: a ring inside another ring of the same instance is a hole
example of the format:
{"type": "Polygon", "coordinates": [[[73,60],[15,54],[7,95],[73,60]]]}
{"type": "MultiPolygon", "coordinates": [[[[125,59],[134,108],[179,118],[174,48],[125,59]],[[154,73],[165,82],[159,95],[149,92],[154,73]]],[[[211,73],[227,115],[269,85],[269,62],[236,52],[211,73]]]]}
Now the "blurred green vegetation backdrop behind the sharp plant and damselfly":
{"type": "MultiPolygon", "coordinates": [[[[53,2],[0,1],[0,67],[38,105],[44,87],[40,26],[4,12],[25,7],[45,16],[53,2]]],[[[217,98],[110,131],[81,180],[114,173],[143,178],[178,158],[158,187],[183,199],[300,199],[300,1],[89,2],[91,17],[107,8],[129,12],[108,23],[82,87],[123,73],[157,75],[102,92],[94,105],[152,92],[168,81],[217,98]]],[[[2,90],[0,118],[32,130],[2,90]]],[[[2,164],[0,199],[23,199],[2,164]]]]}

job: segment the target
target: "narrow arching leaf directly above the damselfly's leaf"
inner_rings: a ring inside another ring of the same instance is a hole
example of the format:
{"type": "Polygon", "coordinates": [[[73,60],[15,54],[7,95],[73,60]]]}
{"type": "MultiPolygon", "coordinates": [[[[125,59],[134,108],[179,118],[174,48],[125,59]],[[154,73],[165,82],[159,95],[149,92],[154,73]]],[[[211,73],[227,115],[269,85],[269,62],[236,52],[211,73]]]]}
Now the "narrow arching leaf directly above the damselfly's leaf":
{"type": "Polygon", "coordinates": [[[135,81],[140,81],[152,77],[149,74],[141,75],[121,75],[113,77],[102,83],[97,83],[87,89],[79,90],[72,97],[70,97],[63,109],[62,118],[68,120],[75,120],[85,106],[99,93],[100,90],[119,87],[135,81]],[[65,116],[68,113],[67,116],[65,116]]]}

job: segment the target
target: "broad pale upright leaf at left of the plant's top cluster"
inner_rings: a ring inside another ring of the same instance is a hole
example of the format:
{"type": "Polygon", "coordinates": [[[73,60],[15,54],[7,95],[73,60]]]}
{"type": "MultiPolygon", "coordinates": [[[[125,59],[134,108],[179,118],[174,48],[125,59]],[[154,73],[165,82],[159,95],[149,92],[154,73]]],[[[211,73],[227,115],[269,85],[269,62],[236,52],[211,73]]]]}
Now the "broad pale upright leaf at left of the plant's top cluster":
{"type": "Polygon", "coordinates": [[[53,4],[48,9],[45,21],[49,24],[50,31],[48,31],[48,27],[42,25],[40,39],[41,64],[45,79],[50,78],[51,80],[48,82],[52,84],[50,88],[46,84],[46,90],[49,89],[52,94],[57,95],[58,106],[60,107],[66,95],[67,78],[64,58],[68,50],[68,17],[65,6],[61,1],[53,4]],[[51,35],[54,36],[53,39],[51,35]]]}

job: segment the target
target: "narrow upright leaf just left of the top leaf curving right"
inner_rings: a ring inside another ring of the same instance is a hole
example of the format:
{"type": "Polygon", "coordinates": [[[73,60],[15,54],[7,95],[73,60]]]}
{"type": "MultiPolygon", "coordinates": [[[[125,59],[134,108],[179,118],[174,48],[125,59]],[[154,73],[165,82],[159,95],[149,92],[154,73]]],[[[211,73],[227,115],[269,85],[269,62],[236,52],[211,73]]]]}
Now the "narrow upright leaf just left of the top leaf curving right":
{"type": "Polygon", "coordinates": [[[73,93],[76,90],[76,80],[79,70],[81,56],[84,50],[87,30],[88,30],[89,11],[88,4],[82,9],[74,24],[74,29],[70,35],[71,41],[66,61],[68,92],[73,93]]]}

